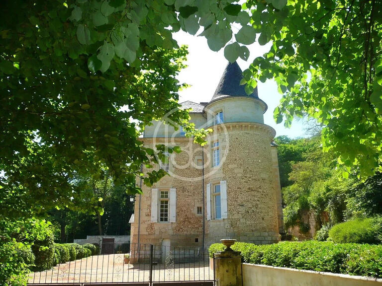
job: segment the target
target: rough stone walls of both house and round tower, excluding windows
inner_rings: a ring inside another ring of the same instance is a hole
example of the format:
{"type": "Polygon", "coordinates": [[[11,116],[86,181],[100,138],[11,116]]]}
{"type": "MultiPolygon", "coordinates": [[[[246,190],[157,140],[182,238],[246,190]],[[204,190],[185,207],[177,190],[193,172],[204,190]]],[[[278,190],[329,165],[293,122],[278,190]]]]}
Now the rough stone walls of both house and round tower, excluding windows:
{"type": "MultiPolygon", "coordinates": [[[[271,127],[260,123],[225,123],[215,126],[207,141],[219,140],[219,167],[212,167],[210,145],[203,148],[193,144],[192,139],[179,137],[171,139],[172,142],[167,142],[169,139],[166,138],[142,138],[146,147],[153,148],[155,144],[164,143],[169,146],[178,145],[183,151],[171,155],[170,176],[165,176],[150,188],[142,186],[143,195],[138,195],[135,201],[131,242],[162,245],[164,240],[169,240],[171,247],[201,248],[203,219],[205,247],[219,242],[221,238],[235,238],[257,244],[279,241],[282,210],[279,209],[281,193],[277,152],[275,157],[275,151],[272,150],[274,147],[271,147],[274,136],[275,131],[271,127]],[[202,166],[197,166],[197,160],[202,156],[204,186],[202,166]],[[206,215],[196,214],[196,209],[203,207],[204,195],[206,213],[206,185],[222,180],[227,184],[228,216],[226,219],[206,220],[206,215]],[[176,189],[176,222],[151,222],[152,188],[176,189]]],[[[154,168],[158,169],[158,166],[154,168]]],[[[147,171],[150,170],[143,168],[143,173],[147,171]]]]}

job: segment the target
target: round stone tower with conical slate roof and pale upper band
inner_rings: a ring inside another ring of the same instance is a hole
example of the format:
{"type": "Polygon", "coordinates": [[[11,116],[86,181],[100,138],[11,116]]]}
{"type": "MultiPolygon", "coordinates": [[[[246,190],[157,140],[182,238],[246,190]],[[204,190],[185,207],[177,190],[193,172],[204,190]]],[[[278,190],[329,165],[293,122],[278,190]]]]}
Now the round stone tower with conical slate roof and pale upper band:
{"type": "Polygon", "coordinates": [[[222,237],[254,243],[280,239],[280,179],[272,146],[276,132],[264,124],[267,105],[257,88],[247,95],[242,78],[238,64],[228,64],[204,108],[213,129],[206,146],[211,162],[204,163],[206,245],[222,237]]]}

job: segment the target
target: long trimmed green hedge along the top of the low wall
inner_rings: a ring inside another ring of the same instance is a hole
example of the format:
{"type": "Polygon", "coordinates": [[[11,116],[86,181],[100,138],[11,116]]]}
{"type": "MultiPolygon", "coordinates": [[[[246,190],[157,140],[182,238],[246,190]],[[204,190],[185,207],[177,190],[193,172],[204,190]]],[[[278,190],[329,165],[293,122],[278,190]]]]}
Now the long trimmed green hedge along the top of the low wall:
{"type": "MultiPolygon", "coordinates": [[[[224,248],[212,244],[210,257],[224,248]]],[[[268,245],[237,242],[231,248],[240,251],[247,263],[382,278],[382,245],[311,240],[268,245]]]]}

